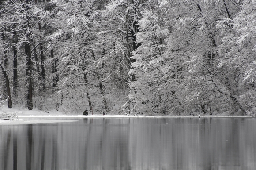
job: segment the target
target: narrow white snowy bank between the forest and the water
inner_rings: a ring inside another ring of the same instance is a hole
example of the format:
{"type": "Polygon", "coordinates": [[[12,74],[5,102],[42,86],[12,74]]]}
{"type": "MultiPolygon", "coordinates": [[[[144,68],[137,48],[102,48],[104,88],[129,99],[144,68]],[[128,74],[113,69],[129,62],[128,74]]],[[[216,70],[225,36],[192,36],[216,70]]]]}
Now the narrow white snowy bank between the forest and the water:
{"type": "Polygon", "coordinates": [[[61,122],[72,122],[78,121],[74,119],[85,119],[85,118],[253,118],[253,116],[237,116],[237,115],[200,115],[194,116],[175,116],[175,115],[118,115],[118,114],[106,114],[102,115],[100,112],[95,112],[93,115],[89,113],[88,116],[81,114],[65,114],[64,112],[51,110],[51,111],[40,111],[40,110],[28,110],[28,109],[3,109],[1,108],[0,114],[4,112],[16,113],[18,119],[4,120],[0,119],[0,125],[22,125],[22,124],[37,124],[37,123],[61,123],[61,122]],[[28,119],[26,119],[28,118],[28,119]],[[31,119],[35,118],[35,119],[31,119]],[[38,119],[37,119],[38,118],[38,119]],[[44,119],[45,118],[45,119],[44,119]],[[65,119],[65,120],[64,120],[65,119]]]}

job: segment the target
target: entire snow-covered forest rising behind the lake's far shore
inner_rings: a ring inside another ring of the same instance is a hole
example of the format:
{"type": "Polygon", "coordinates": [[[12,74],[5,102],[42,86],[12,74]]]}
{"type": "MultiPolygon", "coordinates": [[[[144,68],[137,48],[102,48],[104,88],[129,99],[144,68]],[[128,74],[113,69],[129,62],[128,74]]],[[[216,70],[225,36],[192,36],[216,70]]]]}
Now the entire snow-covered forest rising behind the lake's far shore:
{"type": "Polygon", "coordinates": [[[1,103],[256,115],[255,0],[0,0],[1,103]]]}

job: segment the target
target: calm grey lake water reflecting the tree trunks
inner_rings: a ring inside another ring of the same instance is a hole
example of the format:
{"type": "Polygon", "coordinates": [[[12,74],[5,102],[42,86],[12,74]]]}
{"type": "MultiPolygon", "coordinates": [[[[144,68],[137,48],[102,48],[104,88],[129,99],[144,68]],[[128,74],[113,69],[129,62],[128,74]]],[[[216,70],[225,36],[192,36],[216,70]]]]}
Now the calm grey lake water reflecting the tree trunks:
{"type": "Polygon", "coordinates": [[[0,170],[255,170],[254,118],[0,126],[0,170]]]}

